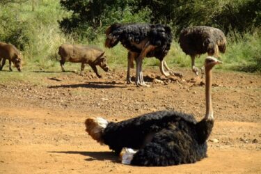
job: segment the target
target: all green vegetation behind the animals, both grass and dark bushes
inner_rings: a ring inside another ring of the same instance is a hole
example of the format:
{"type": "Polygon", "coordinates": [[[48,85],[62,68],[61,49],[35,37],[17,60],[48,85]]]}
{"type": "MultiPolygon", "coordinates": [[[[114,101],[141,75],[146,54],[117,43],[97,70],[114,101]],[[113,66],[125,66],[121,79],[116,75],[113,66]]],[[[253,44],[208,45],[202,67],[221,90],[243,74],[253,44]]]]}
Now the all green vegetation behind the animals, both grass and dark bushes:
{"type": "MultiPolygon", "coordinates": [[[[166,61],[170,67],[187,68],[191,58],[177,43],[180,30],[191,25],[217,27],[228,40],[227,51],[221,54],[224,64],[219,68],[261,71],[261,1],[0,0],[0,41],[10,42],[22,51],[25,71],[61,71],[55,55],[65,42],[97,45],[106,51],[112,68],[125,67],[126,49],[120,44],[104,48],[104,29],[114,22],[168,24],[175,37],[166,61]]],[[[144,64],[158,63],[156,58],[146,58],[144,64]]],[[[203,58],[196,63],[202,65],[203,58]]],[[[65,63],[65,68],[70,66],[73,70],[80,68],[65,63]]]]}

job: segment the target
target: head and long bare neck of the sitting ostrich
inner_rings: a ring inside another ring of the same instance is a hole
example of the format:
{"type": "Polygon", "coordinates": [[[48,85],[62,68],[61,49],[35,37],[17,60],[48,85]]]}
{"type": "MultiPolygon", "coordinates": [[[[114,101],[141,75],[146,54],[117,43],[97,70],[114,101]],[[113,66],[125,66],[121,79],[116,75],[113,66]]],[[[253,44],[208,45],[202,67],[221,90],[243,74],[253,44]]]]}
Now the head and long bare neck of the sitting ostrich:
{"type": "Polygon", "coordinates": [[[206,115],[205,119],[207,120],[214,120],[213,116],[213,109],[212,109],[212,99],[211,99],[211,86],[212,86],[212,68],[214,65],[222,63],[218,59],[207,56],[205,59],[205,74],[206,74],[206,88],[205,88],[205,95],[206,95],[206,115]]]}

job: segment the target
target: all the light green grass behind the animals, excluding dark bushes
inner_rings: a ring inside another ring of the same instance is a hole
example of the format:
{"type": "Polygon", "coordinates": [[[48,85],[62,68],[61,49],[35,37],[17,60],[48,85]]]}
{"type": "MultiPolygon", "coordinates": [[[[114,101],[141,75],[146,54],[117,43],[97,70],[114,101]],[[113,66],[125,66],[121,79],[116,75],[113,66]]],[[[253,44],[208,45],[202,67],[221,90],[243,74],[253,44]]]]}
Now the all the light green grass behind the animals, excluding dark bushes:
{"type": "MultiPolygon", "coordinates": [[[[45,0],[39,1],[35,10],[31,9],[31,1],[27,1],[20,5],[13,5],[10,7],[1,8],[0,11],[0,40],[4,40],[7,37],[9,30],[19,28],[22,29],[23,33],[15,33],[16,36],[24,41],[24,50],[22,54],[23,59],[23,70],[24,73],[35,72],[40,69],[46,71],[60,71],[61,67],[58,61],[55,61],[56,49],[59,45],[67,43],[77,43],[84,45],[96,45],[104,49],[106,56],[109,60],[109,66],[111,68],[126,68],[127,66],[127,49],[118,44],[112,49],[106,49],[104,47],[105,36],[102,33],[92,42],[88,40],[79,40],[77,35],[65,35],[61,32],[58,26],[58,20],[63,17],[70,15],[69,12],[63,10],[59,4],[59,1],[45,0]],[[18,8],[19,6],[19,8],[18,8]],[[13,14],[13,9],[15,15],[13,14]],[[9,17],[9,18],[8,18],[9,17]],[[1,25],[1,20],[6,20],[10,23],[1,25]],[[22,24],[22,26],[19,26],[22,24]],[[22,27],[22,28],[21,28],[22,27]],[[22,38],[21,38],[22,37],[22,38]]],[[[20,40],[20,41],[21,41],[20,40]]],[[[21,42],[22,42],[21,41],[21,42]]],[[[196,58],[196,66],[201,67],[203,65],[204,58],[207,55],[201,55],[200,58],[196,58]]],[[[226,54],[221,54],[221,59],[224,62],[219,69],[223,70],[235,70],[235,71],[246,71],[256,72],[261,71],[261,33],[254,32],[245,33],[240,36],[238,33],[228,35],[228,47],[226,54]]],[[[190,68],[191,58],[185,55],[180,49],[180,45],[177,43],[177,39],[173,40],[171,50],[166,56],[166,62],[170,68],[179,66],[181,68],[190,68]]],[[[157,67],[159,66],[159,60],[156,58],[145,58],[143,62],[144,67],[157,67]]],[[[78,70],[80,69],[79,63],[65,63],[66,70],[78,70]]],[[[87,68],[87,67],[86,67],[87,68]]],[[[8,69],[7,69],[8,70],[8,69]]],[[[6,76],[6,72],[1,72],[6,76]]],[[[10,74],[15,74],[12,72],[10,74]]],[[[22,74],[17,77],[22,79],[22,74]]],[[[3,75],[1,75],[1,79],[3,75]]]]}

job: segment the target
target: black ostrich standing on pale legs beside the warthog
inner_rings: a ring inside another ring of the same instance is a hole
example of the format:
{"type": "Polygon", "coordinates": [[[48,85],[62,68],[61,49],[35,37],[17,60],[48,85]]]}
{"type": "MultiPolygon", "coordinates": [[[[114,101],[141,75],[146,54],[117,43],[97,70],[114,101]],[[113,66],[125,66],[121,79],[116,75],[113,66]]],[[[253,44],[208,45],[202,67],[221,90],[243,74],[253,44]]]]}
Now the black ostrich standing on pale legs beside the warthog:
{"type": "Polygon", "coordinates": [[[164,57],[171,47],[171,28],[162,24],[112,24],[106,29],[105,47],[111,48],[121,42],[128,50],[127,84],[131,83],[130,68],[136,61],[136,86],[147,86],[143,81],[143,58],[155,56],[160,61],[160,71],[166,77],[175,75],[182,77],[180,72],[172,72],[164,57]],[[164,70],[168,70],[167,72],[164,70]]]}

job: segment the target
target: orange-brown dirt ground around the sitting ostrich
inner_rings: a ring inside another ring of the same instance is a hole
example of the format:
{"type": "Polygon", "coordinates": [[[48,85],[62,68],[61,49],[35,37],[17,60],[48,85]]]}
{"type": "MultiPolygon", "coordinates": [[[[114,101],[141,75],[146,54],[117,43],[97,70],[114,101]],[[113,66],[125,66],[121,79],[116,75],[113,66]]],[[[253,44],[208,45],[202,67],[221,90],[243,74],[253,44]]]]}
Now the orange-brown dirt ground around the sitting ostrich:
{"type": "Polygon", "coordinates": [[[86,134],[84,120],[90,116],[120,121],[175,109],[200,120],[204,83],[190,70],[182,71],[183,80],[146,69],[150,88],[125,84],[123,69],[103,73],[102,79],[91,72],[84,77],[30,72],[33,79],[8,82],[1,78],[18,72],[0,72],[0,173],[261,173],[260,74],[214,70],[216,122],[208,157],[196,164],[122,165],[108,147],[86,134]]]}

